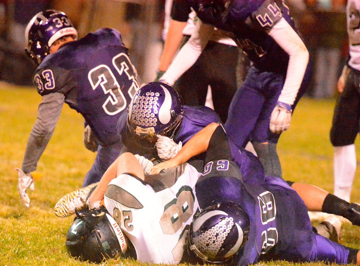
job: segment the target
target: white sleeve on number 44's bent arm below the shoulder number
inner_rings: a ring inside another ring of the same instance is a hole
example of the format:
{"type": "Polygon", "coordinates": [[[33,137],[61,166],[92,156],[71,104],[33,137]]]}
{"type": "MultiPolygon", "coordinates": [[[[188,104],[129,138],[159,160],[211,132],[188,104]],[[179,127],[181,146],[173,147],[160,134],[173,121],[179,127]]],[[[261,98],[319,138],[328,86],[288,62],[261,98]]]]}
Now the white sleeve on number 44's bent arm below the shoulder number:
{"type": "Polygon", "coordinates": [[[278,100],[291,105],[294,103],[304,77],[309,52],[300,36],[284,18],[275,24],[269,35],[289,55],[285,83],[278,100]]]}

